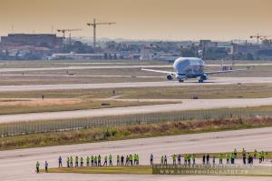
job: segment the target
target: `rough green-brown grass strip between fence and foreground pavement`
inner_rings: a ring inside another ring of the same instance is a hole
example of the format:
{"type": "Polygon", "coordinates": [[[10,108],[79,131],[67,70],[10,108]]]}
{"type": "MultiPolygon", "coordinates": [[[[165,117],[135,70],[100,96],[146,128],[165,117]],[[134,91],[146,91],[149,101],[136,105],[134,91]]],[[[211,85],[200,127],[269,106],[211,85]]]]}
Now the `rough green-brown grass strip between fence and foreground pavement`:
{"type": "Polygon", "coordinates": [[[272,117],[164,121],[148,125],[86,128],[73,131],[1,137],[0,150],[37,146],[72,145],[80,143],[154,136],[172,136],[267,126],[272,126],[272,117]]]}

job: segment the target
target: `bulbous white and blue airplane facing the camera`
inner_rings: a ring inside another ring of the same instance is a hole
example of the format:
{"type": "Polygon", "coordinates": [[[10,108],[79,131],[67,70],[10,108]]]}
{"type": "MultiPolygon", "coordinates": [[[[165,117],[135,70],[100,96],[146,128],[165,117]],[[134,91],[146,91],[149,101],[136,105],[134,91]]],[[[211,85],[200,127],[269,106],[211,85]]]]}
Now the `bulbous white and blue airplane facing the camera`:
{"type": "Polygon", "coordinates": [[[176,76],[176,79],[179,82],[184,82],[184,80],[189,78],[199,78],[199,83],[203,83],[204,80],[208,80],[209,75],[246,70],[246,69],[237,69],[237,70],[221,70],[221,71],[215,71],[215,72],[204,72],[204,66],[205,66],[205,63],[201,58],[180,57],[180,58],[177,58],[173,64],[175,72],[154,70],[154,69],[147,69],[147,68],[141,68],[141,70],[167,74],[166,78],[168,80],[173,80],[174,76],[176,76]]]}

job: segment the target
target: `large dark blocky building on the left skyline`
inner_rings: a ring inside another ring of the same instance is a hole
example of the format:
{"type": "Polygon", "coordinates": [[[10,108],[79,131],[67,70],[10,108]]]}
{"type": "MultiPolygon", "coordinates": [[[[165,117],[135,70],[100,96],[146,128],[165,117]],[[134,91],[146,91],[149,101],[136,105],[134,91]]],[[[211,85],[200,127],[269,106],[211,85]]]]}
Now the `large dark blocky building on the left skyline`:
{"type": "Polygon", "coordinates": [[[54,34],[8,34],[1,37],[1,45],[9,46],[36,46],[59,49],[63,45],[63,37],[54,34]]]}

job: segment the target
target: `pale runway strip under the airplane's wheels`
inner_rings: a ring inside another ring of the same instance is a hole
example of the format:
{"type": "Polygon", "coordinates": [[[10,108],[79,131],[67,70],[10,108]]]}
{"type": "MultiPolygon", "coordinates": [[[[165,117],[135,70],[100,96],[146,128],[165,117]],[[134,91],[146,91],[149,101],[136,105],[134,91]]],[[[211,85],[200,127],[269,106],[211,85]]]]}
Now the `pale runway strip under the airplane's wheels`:
{"type": "Polygon", "coordinates": [[[212,77],[205,83],[189,79],[184,83],[177,81],[163,82],[128,82],[102,84],[65,84],[65,85],[0,85],[0,92],[8,91],[45,91],[67,89],[98,89],[123,87],[158,87],[158,86],[189,86],[189,85],[237,85],[237,84],[272,84],[272,77],[212,77]]]}

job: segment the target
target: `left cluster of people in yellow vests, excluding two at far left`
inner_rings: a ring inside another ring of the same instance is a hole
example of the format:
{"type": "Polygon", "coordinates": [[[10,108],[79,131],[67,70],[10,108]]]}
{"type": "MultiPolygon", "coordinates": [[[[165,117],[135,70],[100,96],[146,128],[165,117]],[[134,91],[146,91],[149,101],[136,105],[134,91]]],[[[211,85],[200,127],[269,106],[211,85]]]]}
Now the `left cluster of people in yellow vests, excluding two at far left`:
{"type": "MultiPolygon", "coordinates": [[[[63,158],[59,157],[59,167],[63,166],[63,158]]],[[[113,166],[112,155],[104,156],[75,156],[73,161],[73,156],[68,156],[66,159],[67,167],[77,167],[77,166],[113,166]],[[84,165],[85,163],[85,165],[84,165]],[[74,164],[74,165],[73,165],[74,164]]],[[[128,155],[128,156],[116,156],[116,166],[137,166],[140,163],[140,157],[137,154],[128,155]]]]}

